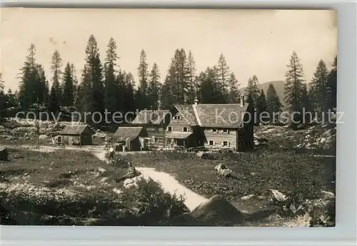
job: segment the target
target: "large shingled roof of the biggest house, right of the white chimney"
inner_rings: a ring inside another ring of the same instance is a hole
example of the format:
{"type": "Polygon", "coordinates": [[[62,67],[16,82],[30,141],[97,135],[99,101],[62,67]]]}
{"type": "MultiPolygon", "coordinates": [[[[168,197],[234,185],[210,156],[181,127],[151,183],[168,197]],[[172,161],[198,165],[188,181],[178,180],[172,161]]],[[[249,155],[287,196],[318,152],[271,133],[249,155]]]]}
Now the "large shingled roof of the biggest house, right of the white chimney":
{"type": "Polygon", "coordinates": [[[241,104],[193,104],[198,125],[208,128],[239,128],[247,109],[248,103],[243,107],[241,104]]]}

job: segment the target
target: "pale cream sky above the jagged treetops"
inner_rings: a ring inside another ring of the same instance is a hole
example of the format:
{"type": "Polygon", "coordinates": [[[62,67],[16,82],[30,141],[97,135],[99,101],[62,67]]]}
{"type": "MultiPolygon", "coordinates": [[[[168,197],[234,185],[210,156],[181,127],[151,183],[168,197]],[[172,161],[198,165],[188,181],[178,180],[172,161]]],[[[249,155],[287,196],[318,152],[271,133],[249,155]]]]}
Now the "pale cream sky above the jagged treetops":
{"type": "Polygon", "coordinates": [[[256,74],[261,83],[283,80],[293,50],[310,81],[322,58],[331,67],[337,52],[336,11],[320,10],[166,10],[166,9],[1,9],[1,61],[6,88],[16,89],[16,74],[30,43],[36,61],[51,78],[55,49],[63,63],[74,63],[78,76],[86,42],[94,34],[104,59],[112,36],[119,64],[136,78],[141,48],[149,66],[166,76],[176,48],[191,50],[198,72],[226,56],[241,86],[256,74]]]}

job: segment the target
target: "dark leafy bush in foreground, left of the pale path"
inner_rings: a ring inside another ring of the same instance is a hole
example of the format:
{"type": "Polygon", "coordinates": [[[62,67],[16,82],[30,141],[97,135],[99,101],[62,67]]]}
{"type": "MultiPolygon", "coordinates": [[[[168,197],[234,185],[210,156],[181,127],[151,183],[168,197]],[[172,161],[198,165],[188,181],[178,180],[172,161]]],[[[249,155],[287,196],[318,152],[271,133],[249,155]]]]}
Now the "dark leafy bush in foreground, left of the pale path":
{"type": "Polygon", "coordinates": [[[184,205],[184,198],[166,193],[160,183],[149,178],[141,178],[136,187],[128,188],[121,193],[126,207],[131,207],[139,219],[140,225],[158,225],[159,222],[189,212],[184,205]]]}

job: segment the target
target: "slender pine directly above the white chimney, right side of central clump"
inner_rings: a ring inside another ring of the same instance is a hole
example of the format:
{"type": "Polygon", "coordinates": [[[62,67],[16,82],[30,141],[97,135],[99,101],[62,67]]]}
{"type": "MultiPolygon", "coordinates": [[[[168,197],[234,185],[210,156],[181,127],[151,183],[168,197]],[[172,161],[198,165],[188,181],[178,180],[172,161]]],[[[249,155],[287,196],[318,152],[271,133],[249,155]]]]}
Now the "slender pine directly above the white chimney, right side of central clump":
{"type": "Polygon", "coordinates": [[[196,62],[193,59],[193,54],[188,51],[187,56],[187,68],[188,68],[188,91],[186,103],[192,104],[195,101],[198,91],[198,79],[196,76],[196,62]]]}

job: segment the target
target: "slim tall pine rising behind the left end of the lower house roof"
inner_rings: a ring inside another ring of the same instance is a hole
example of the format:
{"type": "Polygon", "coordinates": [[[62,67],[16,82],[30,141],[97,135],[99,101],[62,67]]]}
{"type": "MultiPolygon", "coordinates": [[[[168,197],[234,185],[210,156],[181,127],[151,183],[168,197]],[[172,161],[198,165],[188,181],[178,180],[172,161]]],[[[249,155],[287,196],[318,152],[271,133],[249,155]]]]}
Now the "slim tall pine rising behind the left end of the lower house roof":
{"type": "Polygon", "coordinates": [[[149,64],[146,62],[146,52],[144,49],[140,53],[140,61],[138,67],[138,77],[139,77],[139,91],[140,97],[139,108],[146,108],[149,102],[148,84],[149,84],[149,64]]]}

